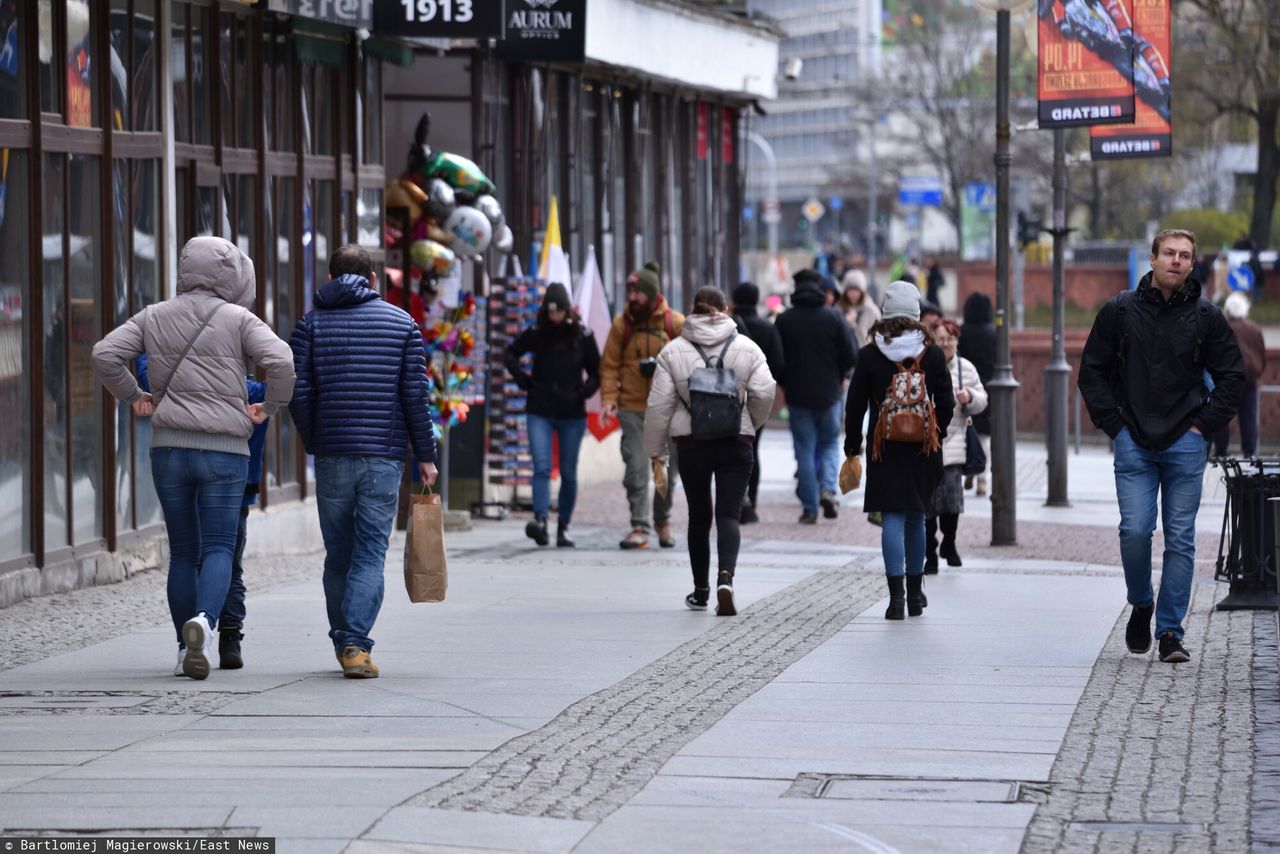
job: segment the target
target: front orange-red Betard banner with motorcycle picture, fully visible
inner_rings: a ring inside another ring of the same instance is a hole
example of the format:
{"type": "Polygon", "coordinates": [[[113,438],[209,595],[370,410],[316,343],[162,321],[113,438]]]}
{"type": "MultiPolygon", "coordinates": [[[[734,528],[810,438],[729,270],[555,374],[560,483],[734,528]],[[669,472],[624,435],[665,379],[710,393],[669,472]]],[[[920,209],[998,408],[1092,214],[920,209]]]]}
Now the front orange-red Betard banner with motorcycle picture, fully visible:
{"type": "Polygon", "coordinates": [[[1134,0],[1038,0],[1039,127],[1134,120],[1133,50],[1121,31],[1134,0]]]}

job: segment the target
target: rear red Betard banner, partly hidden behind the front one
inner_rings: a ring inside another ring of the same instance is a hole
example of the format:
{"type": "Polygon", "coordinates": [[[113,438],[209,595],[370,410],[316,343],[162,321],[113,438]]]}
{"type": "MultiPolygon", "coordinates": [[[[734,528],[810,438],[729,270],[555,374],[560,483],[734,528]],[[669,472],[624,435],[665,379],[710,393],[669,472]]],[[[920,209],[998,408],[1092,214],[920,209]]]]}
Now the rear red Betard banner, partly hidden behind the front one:
{"type": "Polygon", "coordinates": [[[1133,86],[1138,109],[1133,124],[1089,128],[1094,160],[1172,156],[1169,58],[1172,45],[1170,0],[1133,0],[1133,86]]]}

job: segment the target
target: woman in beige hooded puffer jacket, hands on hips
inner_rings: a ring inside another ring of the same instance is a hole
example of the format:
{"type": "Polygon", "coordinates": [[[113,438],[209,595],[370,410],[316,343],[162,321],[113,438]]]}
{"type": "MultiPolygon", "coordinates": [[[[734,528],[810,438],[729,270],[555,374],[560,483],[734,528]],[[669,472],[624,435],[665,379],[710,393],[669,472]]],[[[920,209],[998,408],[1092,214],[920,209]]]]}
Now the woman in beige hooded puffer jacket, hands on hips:
{"type": "Polygon", "coordinates": [[[169,535],[174,673],[207,679],[214,629],[230,588],[248,439],[293,393],[289,347],[253,315],[253,262],[220,237],[196,237],[178,257],[178,296],[133,315],[93,347],[93,370],[133,412],[150,416],[151,478],[169,535]],[[129,370],[148,355],[151,392],[129,370]],[[244,365],[266,371],[261,403],[244,365]]]}

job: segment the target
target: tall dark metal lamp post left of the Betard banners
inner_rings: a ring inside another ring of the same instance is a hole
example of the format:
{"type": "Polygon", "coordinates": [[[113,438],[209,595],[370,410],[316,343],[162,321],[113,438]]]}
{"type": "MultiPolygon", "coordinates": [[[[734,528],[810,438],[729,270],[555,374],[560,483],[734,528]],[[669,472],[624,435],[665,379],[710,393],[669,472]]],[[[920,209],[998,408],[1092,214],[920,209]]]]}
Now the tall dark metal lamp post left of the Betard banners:
{"type": "Polygon", "coordinates": [[[1018,543],[1016,396],[1009,346],[1009,10],[996,13],[996,373],[991,391],[991,544],[1018,543]]]}

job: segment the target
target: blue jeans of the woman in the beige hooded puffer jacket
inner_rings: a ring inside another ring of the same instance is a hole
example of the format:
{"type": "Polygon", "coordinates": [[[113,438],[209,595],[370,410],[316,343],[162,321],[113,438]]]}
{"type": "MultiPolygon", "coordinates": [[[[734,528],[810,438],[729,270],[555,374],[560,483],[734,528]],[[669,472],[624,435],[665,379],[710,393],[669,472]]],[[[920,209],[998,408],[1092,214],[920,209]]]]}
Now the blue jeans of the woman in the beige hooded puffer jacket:
{"type": "Polygon", "coordinates": [[[204,611],[218,620],[236,554],[248,457],[219,451],[152,448],[151,480],[169,534],[169,616],[182,624],[204,611]]]}

